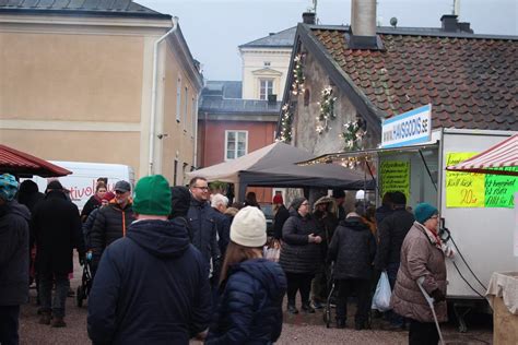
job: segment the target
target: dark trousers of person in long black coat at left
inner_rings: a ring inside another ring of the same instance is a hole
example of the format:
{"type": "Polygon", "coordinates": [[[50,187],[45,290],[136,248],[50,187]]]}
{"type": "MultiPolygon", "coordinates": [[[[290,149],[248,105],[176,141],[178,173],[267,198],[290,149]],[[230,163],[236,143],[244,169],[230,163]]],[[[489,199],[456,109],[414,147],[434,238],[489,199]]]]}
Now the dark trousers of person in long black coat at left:
{"type": "Polygon", "coordinates": [[[64,317],[64,305],[70,288],[69,274],[52,274],[47,272],[39,273],[39,300],[42,302],[42,311],[50,312],[57,318],[64,317]],[[56,282],[56,292],[52,296],[52,282],[56,282]],[[52,301],[50,308],[50,301],[52,301]]]}

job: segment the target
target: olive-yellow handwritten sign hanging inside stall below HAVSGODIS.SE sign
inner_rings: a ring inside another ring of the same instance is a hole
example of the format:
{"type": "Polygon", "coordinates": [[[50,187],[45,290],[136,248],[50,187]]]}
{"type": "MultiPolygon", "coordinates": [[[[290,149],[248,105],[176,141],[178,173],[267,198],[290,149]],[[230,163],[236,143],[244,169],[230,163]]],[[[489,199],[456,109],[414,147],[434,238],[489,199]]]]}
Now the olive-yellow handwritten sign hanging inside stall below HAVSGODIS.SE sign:
{"type": "Polygon", "coordinates": [[[386,160],[381,163],[381,194],[400,191],[410,200],[410,163],[386,160]]]}

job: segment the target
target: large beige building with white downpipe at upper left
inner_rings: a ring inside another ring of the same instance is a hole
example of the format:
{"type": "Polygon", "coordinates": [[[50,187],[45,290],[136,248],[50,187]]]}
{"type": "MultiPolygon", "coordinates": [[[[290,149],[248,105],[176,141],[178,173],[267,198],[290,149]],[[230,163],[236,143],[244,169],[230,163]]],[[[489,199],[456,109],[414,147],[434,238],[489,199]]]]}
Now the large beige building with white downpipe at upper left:
{"type": "Polygon", "coordinates": [[[0,7],[2,144],[186,182],[196,165],[202,76],[177,21],[130,4],[84,12],[0,7]]]}

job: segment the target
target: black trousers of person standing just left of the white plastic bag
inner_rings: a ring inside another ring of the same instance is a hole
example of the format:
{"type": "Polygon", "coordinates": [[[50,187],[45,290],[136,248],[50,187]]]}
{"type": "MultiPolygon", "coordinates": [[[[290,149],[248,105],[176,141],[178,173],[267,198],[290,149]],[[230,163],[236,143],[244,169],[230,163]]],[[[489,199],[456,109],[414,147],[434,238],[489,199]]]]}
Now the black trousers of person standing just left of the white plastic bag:
{"type": "Polygon", "coordinates": [[[339,279],[338,281],[338,302],[337,319],[348,318],[348,297],[356,296],[356,323],[368,321],[368,310],[370,308],[370,279],[339,279]]]}

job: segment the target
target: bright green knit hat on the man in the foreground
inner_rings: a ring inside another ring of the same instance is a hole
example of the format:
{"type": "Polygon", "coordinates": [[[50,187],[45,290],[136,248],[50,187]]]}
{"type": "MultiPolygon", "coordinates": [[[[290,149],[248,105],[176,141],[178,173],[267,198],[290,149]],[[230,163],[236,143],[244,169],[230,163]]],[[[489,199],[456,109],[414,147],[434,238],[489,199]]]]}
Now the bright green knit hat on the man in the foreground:
{"type": "MultiPolygon", "coordinates": [[[[119,181],[120,182],[120,181],[119,181]]],[[[145,176],[134,188],[133,211],[146,215],[169,215],[169,182],[162,175],[145,176]]]]}

